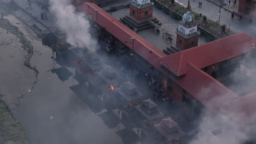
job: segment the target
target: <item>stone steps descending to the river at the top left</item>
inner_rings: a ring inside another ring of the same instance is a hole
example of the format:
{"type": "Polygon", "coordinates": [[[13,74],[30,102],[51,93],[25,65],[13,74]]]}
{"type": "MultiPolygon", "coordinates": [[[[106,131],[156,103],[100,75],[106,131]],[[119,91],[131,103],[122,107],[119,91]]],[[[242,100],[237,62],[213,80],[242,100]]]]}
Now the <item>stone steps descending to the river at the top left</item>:
{"type": "Polygon", "coordinates": [[[25,25],[30,27],[39,37],[42,37],[44,32],[49,31],[48,27],[43,25],[43,23],[38,21],[31,14],[27,13],[26,10],[22,9],[17,4],[15,4],[15,6],[16,6],[16,9],[13,11],[13,15],[18,17],[18,19],[24,22],[25,25]]]}

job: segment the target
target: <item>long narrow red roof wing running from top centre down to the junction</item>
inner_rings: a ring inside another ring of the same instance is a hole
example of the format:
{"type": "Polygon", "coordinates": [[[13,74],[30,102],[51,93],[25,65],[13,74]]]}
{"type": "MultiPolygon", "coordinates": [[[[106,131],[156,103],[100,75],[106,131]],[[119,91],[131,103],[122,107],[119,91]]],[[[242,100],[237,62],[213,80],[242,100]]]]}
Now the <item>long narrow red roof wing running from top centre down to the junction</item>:
{"type": "Polygon", "coordinates": [[[150,64],[154,65],[154,67],[159,68],[160,64],[155,61],[155,59],[159,59],[161,57],[166,56],[163,52],[158,50],[155,46],[150,44],[147,40],[142,38],[137,33],[133,32],[130,28],[126,27],[123,23],[115,19],[113,16],[109,15],[106,11],[98,7],[95,3],[84,3],[79,5],[78,9],[83,11],[84,13],[88,12],[89,14],[96,14],[97,16],[89,15],[97,21],[98,24],[105,28],[109,33],[114,35],[114,37],[118,38],[122,43],[132,49],[132,43],[125,43],[125,41],[131,41],[129,38],[137,37],[134,39],[134,47],[133,50],[142,58],[146,59],[150,64]],[[150,52],[151,51],[151,52],[150,52]]]}

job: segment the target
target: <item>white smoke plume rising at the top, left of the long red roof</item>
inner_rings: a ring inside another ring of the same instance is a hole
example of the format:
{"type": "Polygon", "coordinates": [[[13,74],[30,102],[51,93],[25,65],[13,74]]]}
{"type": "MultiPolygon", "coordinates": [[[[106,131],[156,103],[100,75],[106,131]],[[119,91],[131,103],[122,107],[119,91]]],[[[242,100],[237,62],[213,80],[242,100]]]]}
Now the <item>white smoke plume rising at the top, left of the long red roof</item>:
{"type": "Polygon", "coordinates": [[[67,34],[67,43],[73,47],[87,47],[95,51],[96,40],[90,34],[90,22],[84,13],[77,13],[70,0],[50,0],[50,10],[56,17],[56,25],[67,34]]]}

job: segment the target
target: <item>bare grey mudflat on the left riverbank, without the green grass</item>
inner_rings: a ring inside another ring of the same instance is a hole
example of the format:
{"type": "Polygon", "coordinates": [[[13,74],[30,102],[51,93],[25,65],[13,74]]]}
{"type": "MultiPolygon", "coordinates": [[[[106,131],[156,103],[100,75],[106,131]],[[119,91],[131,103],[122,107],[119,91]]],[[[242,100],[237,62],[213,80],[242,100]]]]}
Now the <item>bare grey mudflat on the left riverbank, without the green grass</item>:
{"type": "Polygon", "coordinates": [[[20,105],[22,95],[36,84],[38,71],[30,65],[33,46],[9,20],[20,25],[14,16],[0,20],[0,94],[14,110],[20,105]]]}

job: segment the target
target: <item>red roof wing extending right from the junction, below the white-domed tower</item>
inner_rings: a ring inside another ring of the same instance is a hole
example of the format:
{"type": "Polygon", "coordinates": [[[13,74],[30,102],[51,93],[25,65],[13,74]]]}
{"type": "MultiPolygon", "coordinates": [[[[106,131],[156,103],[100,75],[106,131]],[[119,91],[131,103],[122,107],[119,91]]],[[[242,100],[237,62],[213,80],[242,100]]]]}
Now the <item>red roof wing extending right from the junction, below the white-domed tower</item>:
{"type": "MultiPolygon", "coordinates": [[[[160,61],[167,63],[172,73],[181,76],[187,74],[189,62],[201,69],[248,52],[251,49],[253,39],[245,32],[241,32],[174,53],[160,61]]],[[[164,66],[166,67],[166,65],[164,66]]]]}

